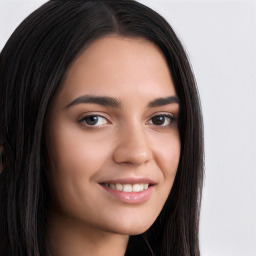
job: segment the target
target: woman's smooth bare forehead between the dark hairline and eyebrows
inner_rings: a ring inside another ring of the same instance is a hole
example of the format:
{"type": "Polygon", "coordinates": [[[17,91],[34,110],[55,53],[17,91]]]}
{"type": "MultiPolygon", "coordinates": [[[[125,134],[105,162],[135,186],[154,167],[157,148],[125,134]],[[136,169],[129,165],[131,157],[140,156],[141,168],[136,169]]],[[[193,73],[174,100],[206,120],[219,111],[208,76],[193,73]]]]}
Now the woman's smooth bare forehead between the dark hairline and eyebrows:
{"type": "Polygon", "coordinates": [[[82,94],[122,98],[134,93],[175,95],[167,62],[153,43],[114,35],[96,40],[79,55],[60,91],[70,100],[82,94]]]}

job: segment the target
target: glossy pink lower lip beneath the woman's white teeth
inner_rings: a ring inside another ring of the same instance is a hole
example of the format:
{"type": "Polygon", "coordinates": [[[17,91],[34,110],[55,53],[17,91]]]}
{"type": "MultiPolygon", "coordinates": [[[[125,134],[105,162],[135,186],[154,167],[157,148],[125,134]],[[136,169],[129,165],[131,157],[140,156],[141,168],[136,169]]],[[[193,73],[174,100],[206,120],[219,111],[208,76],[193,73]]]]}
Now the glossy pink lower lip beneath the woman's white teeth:
{"type": "Polygon", "coordinates": [[[148,189],[141,192],[124,192],[106,187],[104,185],[101,186],[116,199],[127,204],[143,204],[147,202],[150,199],[154,188],[154,186],[150,186],[148,189]]]}

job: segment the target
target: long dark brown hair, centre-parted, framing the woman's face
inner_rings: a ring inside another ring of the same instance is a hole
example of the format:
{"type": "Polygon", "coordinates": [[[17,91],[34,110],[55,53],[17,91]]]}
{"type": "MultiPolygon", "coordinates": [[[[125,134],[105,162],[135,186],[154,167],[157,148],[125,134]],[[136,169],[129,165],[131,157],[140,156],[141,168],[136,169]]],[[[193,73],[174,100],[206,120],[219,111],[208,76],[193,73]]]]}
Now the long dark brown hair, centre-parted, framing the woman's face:
{"type": "Polygon", "coordinates": [[[45,115],[68,68],[109,34],[145,38],[164,54],[180,100],[181,156],[171,193],[126,255],[199,256],[203,135],[199,96],[184,49],[170,25],[132,0],[52,0],[15,30],[0,59],[0,255],[50,255],[44,241],[49,192],[45,115]]]}

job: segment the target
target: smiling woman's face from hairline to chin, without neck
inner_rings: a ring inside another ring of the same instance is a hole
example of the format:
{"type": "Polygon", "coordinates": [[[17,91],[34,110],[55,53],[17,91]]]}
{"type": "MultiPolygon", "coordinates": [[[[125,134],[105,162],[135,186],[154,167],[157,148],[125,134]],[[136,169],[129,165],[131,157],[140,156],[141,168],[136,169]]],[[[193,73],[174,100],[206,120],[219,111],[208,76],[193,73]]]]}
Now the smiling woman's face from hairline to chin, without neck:
{"type": "Polygon", "coordinates": [[[73,63],[50,107],[50,212],[91,230],[146,231],[180,157],[166,60],[145,39],[107,36],[73,63]]]}

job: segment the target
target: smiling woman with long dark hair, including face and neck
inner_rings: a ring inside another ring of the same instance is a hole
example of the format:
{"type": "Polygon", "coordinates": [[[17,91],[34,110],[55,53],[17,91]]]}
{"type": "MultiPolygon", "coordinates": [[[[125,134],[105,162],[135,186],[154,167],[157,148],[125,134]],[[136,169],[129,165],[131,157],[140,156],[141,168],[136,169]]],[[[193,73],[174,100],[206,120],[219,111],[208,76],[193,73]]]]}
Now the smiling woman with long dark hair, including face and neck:
{"type": "Polygon", "coordinates": [[[200,254],[200,104],[161,16],[52,0],[0,68],[1,255],[200,254]]]}

